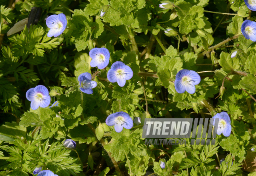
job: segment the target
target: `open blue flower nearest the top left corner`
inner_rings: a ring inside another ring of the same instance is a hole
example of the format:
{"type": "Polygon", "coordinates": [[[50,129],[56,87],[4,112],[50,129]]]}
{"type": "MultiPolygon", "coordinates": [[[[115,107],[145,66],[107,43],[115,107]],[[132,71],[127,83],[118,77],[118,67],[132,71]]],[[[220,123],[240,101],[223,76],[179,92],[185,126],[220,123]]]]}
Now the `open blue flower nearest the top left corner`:
{"type": "Polygon", "coordinates": [[[64,14],[51,15],[46,19],[46,25],[50,28],[48,37],[57,37],[63,33],[67,26],[67,18],[64,14]]]}

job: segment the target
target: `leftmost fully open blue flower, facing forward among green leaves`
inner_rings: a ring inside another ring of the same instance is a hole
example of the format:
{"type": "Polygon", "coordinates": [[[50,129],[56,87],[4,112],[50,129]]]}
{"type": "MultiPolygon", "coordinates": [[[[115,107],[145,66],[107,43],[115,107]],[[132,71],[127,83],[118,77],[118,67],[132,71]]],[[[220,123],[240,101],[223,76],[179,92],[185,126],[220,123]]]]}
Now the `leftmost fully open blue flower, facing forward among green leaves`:
{"type": "Polygon", "coordinates": [[[38,107],[47,107],[51,102],[48,89],[42,85],[29,89],[26,98],[31,101],[30,106],[33,110],[38,109],[38,107]]]}

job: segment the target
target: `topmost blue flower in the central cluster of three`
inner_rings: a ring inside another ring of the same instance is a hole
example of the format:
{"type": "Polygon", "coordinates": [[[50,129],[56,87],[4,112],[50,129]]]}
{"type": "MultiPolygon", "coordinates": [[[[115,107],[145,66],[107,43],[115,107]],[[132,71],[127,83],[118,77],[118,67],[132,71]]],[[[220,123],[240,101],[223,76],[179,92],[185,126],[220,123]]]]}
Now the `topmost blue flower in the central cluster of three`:
{"type": "Polygon", "coordinates": [[[98,69],[104,69],[109,64],[110,53],[107,48],[93,48],[89,52],[91,60],[91,67],[97,67],[98,69]]]}

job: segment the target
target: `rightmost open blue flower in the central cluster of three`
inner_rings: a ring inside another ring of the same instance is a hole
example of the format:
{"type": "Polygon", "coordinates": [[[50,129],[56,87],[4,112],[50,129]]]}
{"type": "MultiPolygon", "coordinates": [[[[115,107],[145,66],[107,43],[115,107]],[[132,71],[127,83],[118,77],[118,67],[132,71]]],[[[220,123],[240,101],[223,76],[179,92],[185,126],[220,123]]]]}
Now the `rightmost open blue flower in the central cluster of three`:
{"type": "Polygon", "coordinates": [[[118,82],[118,85],[125,86],[126,80],[133,77],[133,71],[129,66],[126,66],[123,62],[117,61],[112,64],[111,69],[107,72],[107,79],[111,83],[118,82]]]}

